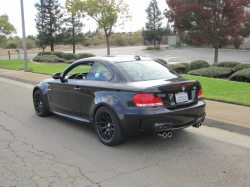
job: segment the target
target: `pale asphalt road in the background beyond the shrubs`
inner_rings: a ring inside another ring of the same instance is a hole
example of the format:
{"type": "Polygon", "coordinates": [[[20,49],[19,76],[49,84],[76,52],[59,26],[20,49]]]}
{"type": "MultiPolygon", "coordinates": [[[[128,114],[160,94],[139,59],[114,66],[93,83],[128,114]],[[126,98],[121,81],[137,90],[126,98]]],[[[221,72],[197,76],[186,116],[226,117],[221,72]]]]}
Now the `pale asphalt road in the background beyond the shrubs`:
{"type": "MultiPolygon", "coordinates": [[[[180,62],[192,62],[194,60],[206,60],[210,64],[214,62],[214,49],[207,48],[173,48],[169,50],[161,51],[149,51],[143,50],[145,46],[134,46],[134,47],[116,47],[111,48],[111,55],[142,55],[151,58],[162,58],[167,60],[169,63],[180,63],[180,62]]],[[[71,52],[71,51],[64,51],[71,52]]],[[[107,55],[107,49],[87,49],[77,50],[76,53],[93,53],[97,56],[107,55]]],[[[32,59],[37,53],[28,54],[28,58],[32,59]]],[[[0,56],[0,59],[8,59],[8,56],[0,56]]],[[[11,59],[17,59],[16,54],[11,55],[11,59]]],[[[23,58],[23,55],[21,55],[23,58]]],[[[223,61],[235,61],[241,63],[250,63],[250,51],[238,51],[230,49],[219,50],[219,62],[223,61]]]]}

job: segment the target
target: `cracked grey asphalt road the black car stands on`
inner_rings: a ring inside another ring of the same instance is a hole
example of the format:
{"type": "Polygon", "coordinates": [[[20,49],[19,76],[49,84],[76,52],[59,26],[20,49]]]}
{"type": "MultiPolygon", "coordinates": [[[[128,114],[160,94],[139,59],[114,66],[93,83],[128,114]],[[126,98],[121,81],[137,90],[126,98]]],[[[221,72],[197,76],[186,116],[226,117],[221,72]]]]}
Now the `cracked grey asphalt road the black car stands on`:
{"type": "Polygon", "coordinates": [[[0,88],[0,186],[249,186],[249,136],[190,127],[107,147],[83,124],[38,117],[33,86],[0,88]]]}

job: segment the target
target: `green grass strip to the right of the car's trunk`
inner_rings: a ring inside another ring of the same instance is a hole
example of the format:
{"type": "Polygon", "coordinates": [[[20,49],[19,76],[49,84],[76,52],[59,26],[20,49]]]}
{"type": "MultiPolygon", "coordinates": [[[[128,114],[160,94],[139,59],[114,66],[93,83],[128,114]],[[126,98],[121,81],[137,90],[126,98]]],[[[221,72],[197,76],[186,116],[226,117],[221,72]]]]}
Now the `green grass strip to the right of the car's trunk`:
{"type": "Polygon", "coordinates": [[[250,106],[250,84],[228,80],[182,75],[198,80],[202,85],[203,98],[250,106]]]}

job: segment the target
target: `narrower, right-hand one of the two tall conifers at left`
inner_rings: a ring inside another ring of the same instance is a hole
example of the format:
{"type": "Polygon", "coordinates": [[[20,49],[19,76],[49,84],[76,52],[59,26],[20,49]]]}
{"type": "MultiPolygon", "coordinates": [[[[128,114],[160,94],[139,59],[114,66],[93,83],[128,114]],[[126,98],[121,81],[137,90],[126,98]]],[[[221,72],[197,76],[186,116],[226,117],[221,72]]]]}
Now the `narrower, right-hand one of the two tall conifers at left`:
{"type": "Polygon", "coordinates": [[[81,33],[82,27],[84,25],[80,21],[80,12],[72,9],[74,4],[75,0],[66,0],[65,8],[67,10],[67,18],[64,19],[64,21],[66,22],[67,29],[70,33],[68,41],[73,45],[73,53],[75,54],[76,37],[81,33]]]}

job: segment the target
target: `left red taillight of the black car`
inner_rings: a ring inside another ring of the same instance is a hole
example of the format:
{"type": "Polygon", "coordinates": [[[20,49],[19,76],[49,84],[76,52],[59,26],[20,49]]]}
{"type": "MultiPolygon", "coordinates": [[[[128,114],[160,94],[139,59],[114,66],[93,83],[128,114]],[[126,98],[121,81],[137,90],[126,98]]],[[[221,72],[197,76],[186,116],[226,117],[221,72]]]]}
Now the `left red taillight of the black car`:
{"type": "Polygon", "coordinates": [[[136,94],[133,98],[137,107],[163,106],[162,99],[152,94],[136,94]]]}

